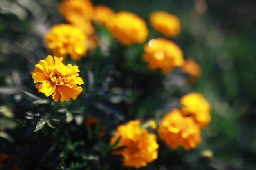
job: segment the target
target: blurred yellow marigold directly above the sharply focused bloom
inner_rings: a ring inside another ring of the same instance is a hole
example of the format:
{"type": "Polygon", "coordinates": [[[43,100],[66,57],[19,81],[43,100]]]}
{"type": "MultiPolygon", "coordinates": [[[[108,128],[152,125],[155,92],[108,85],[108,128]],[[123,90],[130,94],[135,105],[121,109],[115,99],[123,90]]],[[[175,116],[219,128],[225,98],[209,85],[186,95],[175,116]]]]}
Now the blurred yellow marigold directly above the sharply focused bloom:
{"type": "Polygon", "coordinates": [[[72,60],[79,60],[87,51],[87,37],[81,29],[70,24],[53,26],[45,34],[44,41],[56,57],[70,54],[72,60]]]}

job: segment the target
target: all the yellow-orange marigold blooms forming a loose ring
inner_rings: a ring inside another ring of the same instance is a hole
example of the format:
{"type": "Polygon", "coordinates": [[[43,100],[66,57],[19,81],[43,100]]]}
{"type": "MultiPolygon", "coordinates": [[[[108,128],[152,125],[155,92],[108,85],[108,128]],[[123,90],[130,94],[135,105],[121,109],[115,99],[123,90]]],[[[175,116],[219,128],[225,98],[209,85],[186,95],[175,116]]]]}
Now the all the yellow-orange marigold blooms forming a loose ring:
{"type": "MultiPolygon", "coordinates": [[[[70,24],[55,25],[45,34],[44,41],[54,56],[40,60],[31,73],[38,92],[47,97],[52,95],[55,102],[70,101],[70,98],[75,100],[83,91],[79,86],[84,82],[78,77],[78,66],[65,66],[62,61],[67,55],[72,60],[79,60],[87,53],[94,34],[92,21],[106,26],[112,37],[126,46],[143,43],[148,37],[146,22],[130,12],[115,13],[108,7],[93,7],[89,0],[63,0],[58,9],[70,24]]],[[[166,12],[152,13],[150,23],[166,37],[175,37],[180,33],[180,20],[166,12]]],[[[193,77],[200,75],[200,66],[192,60],[184,60],[182,50],[171,40],[149,40],[144,45],[142,58],[151,71],[160,69],[162,73],[168,73],[175,67],[182,67],[182,71],[193,77]]],[[[200,93],[185,95],[180,102],[181,110],[173,108],[167,113],[159,123],[157,132],[169,148],[174,150],[181,146],[190,150],[200,143],[201,128],[211,121],[211,106],[200,93]]],[[[157,128],[155,121],[148,124],[157,128]]],[[[110,144],[114,144],[120,136],[112,153],[123,157],[124,166],[140,168],[157,159],[157,136],[141,128],[139,120],[118,126],[110,144]],[[121,146],[125,148],[116,150],[121,146]]]]}

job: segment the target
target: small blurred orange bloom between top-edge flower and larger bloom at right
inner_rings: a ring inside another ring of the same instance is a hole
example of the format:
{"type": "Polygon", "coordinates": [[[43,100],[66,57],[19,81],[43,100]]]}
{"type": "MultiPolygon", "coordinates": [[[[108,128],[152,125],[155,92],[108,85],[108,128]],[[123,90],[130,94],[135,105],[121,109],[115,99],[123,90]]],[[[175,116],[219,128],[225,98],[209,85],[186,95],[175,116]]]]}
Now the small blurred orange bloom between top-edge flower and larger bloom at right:
{"type": "Polygon", "coordinates": [[[92,20],[94,20],[95,22],[99,22],[103,25],[107,25],[110,18],[114,17],[114,15],[115,12],[112,9],[103,5],[98,5],[94,7],[92,20]]]}

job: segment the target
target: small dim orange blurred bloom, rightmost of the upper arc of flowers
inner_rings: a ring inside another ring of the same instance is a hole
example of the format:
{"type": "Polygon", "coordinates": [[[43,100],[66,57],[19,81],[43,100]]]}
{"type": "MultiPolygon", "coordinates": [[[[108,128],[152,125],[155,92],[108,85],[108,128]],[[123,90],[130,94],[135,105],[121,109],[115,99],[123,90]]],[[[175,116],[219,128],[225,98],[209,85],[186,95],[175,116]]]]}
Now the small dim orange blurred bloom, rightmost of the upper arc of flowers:
{"type": "Polygon", "coordinates": [[[201,67],[191,59],[185,60],[181,69],[192,77],[199,77],[201,74],[201,67]]]}

